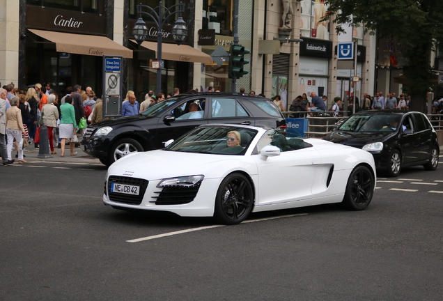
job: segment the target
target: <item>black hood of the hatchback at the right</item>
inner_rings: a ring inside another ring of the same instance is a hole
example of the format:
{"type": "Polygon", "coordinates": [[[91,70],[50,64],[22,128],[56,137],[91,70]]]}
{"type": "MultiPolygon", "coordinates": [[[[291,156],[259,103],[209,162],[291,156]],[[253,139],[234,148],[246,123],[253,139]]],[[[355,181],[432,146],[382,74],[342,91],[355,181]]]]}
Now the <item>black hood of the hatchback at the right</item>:
{"type": "Polygon", "coordinates": [[[371,142],[384,141],[391,137],[393,132],[348,132],[336,130],[328,133],[323,139],[337,144],[345,144],[362,148],[371,142]]]}

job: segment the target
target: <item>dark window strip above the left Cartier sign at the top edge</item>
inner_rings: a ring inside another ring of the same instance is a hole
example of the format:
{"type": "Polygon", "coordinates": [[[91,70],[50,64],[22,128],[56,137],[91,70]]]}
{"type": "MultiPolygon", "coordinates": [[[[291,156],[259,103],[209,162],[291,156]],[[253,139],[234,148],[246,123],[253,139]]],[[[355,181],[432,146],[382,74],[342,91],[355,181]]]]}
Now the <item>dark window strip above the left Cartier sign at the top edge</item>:
{"type": "Polygon", "coordinates": [[[104,0],[26,0],[26,4],[47,8],[81,11],[83,13],[100,13],[104,0]]]}

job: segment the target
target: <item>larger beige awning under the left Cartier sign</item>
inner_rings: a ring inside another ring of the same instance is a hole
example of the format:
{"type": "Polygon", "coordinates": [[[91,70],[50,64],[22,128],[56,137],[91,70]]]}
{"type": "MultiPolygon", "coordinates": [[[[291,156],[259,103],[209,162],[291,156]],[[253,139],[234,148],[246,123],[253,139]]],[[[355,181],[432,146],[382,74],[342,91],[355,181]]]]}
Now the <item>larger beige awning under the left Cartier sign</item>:
{"type": "Polygon", "coordinates": [[[104,36],[61,33],[29,29],[32,33],[56,44],[57,52],[93,56],[115,55],[132,59],[132,50],[104,36]]]}

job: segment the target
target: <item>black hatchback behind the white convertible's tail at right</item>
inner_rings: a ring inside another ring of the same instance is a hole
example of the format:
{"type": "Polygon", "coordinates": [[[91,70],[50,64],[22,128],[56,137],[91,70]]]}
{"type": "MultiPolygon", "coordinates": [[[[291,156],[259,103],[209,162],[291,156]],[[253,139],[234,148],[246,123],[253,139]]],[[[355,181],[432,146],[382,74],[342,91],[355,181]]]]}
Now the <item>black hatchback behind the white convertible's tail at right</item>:
{"type": "Polygon", "coordinates": [[[433,171],[438,166],[437,132],[417,111],[360,111],[323,139],[372,153],[387,176],[398,176],[402,167],[423,165],[433,171]]]}

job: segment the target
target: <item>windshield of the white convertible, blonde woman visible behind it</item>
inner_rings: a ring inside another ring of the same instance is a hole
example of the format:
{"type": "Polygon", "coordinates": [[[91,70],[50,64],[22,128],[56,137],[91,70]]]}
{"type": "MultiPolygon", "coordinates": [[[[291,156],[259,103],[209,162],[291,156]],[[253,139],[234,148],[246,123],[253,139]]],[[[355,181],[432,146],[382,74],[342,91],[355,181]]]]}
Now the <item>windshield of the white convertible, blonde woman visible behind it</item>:
{"type": "Polygon", "coordinates": [[[257,131],[228,126],[199,127],[164,148],[167,151],[244,155],[257,131]]]}

